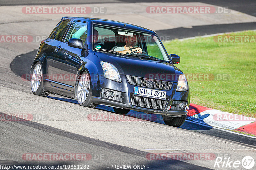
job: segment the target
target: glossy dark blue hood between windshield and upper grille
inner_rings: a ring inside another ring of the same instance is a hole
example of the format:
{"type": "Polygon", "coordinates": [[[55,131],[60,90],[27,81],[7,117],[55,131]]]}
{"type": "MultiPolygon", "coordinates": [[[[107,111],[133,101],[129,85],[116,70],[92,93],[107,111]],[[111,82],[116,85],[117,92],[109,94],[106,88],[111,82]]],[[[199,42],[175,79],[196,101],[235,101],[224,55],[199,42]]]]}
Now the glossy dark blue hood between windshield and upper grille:
{"type": "Polygon", "coordinates": [[[95,55],[102,61],[115,65],[119,74],[172,82],[177,82],[178,76],[183,74],[172,63],[156,62],[155,60],[104,52],[95,52],[95,55]]]}

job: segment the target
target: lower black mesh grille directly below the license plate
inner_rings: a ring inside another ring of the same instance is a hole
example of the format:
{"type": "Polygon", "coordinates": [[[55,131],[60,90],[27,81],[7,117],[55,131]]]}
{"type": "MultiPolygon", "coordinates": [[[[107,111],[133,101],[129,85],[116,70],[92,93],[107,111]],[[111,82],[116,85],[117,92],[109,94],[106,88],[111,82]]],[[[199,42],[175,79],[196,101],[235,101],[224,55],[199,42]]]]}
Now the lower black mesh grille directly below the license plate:
{"type": "Polygon", "coordinates": [[[133,106],[144,107],[148,109],[164,110],[167,100],[135,96],[133,93],[131,93],[131,103],[133,106]]]}

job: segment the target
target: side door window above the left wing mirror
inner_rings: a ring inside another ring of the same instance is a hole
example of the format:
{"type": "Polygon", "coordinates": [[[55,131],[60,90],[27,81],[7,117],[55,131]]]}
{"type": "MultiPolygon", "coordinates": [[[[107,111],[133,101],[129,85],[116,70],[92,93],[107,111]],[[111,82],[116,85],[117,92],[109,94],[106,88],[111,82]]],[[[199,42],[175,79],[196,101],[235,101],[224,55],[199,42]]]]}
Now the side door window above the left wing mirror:
{"type": "Polygon", "coordinates": [[[68,42],[68,40],[72,38],[81,39],[84,44],[87,39],[87,23],[75,21],[70,27],[64,42],[68,42]]]}

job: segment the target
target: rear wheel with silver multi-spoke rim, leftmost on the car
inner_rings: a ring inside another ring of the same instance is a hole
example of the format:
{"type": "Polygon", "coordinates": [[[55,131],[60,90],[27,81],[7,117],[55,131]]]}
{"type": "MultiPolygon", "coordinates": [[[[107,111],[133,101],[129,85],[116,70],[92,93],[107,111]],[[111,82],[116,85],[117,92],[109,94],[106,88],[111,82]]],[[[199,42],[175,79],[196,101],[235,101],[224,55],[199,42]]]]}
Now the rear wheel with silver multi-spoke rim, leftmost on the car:
{"type": "Polygon", "coordinates": [[[40,62],[37,62],[32,66],[31,69],[31,90],[34,95],[48,96],[47,93],[43,90],[43,70],[42,70],[42,64],[40,62]]]}

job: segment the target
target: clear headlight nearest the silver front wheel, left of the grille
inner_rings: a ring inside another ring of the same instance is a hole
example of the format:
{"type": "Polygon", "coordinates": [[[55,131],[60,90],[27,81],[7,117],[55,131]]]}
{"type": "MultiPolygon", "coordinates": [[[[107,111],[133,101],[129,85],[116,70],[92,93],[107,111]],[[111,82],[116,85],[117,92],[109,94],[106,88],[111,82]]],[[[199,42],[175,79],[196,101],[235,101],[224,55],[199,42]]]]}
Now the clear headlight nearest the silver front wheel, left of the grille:
{"type": "Polygon", "coordinates": [[[110,63],[100,61],[100,65],[103,69],[104,77],[109,79],[109,80],[114,80],[118,82],[122,82],[120,74],[117,70],[117,68],[110,63]]]}

